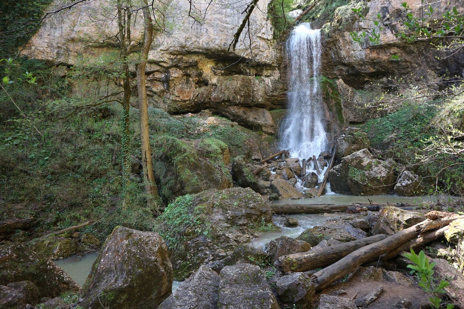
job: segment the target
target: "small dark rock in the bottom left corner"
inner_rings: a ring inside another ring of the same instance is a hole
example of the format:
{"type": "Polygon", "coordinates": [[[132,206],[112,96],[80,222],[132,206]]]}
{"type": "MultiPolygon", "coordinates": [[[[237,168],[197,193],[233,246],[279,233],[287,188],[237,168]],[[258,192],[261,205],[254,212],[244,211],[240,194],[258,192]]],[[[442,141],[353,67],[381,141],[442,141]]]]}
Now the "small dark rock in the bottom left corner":
{"type": "Polygon", "coordinates": [[[23,309],[27,304],[35,305],[39,301],[39,290],[31,281],[0,285],[0,308],[23,309]]]}

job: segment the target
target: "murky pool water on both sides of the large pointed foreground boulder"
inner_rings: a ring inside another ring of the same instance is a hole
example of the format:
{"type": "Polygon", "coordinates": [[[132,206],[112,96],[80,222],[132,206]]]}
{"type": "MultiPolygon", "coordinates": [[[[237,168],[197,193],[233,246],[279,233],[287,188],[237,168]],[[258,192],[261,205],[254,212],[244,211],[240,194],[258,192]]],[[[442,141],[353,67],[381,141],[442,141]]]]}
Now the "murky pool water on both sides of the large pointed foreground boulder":
{"type": "MultiPolygon", "coordinates": [[[[63,268],[63,270],[82,287],[92,270],[93,262],[95,262],[97,256],[98,252],[87,253],[84,256],[73,255],[69,258],[55,261],[55,263],[63,268]]],[[[179,287],[180,283],[179,281],[173,281],[173,291],[179,287]]]]}

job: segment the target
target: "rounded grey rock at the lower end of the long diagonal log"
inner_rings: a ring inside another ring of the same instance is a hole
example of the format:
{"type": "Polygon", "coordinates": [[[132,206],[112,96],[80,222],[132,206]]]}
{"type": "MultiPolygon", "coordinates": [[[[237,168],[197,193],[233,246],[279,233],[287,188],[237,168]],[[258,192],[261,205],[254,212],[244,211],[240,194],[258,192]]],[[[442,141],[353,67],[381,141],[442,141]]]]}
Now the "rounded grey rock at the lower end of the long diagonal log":
{"type": "Polygon", "coordinates": [[[297,304],[307,308],[316,293],[315,285],[303,272],[282,276],[276,281],[279,299],[284,303],[297,304]]]}

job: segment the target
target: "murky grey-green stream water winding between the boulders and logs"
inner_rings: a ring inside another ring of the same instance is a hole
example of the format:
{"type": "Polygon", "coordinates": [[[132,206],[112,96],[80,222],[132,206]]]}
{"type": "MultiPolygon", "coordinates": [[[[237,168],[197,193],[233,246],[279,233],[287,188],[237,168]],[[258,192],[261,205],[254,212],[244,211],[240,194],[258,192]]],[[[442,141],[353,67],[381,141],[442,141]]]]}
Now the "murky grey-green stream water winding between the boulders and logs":
{"type": "MultiPolygon", "coordinates": [[[[351,204],[354,202],[369,202],[371,200],[374,203],[410,203],[419,205],[422,202],[437,202],[437,196],[397,196],[397,195],[373,195],[373,196],[356,196],[356,195],[339,195],[339,194],[327,194],[321,197],[301,199],[301,200],[280,200],[280,203],[298,203],[298,204],[351,204]]],[[[251,240],[250,246],[257,249],[264,250],[265,246],[271,241],[280,236],[288,236],[291,238],[298,237],[305,229],[322,225],[327,220],[343,220],[360,216],[362,214],[347,214],[347,213],[330,213],[330,214],[293,214],[289,217],[298,220],[298,227],[285,227],[283,221],[277,221],[276,224],[281,228],[278,232],[268,232],[260,234],[256,239],[251,240]]],[[[279,216],[274,216],[274,219],[278,219],[279,216]]],[[[55,263],[60,266],[79,286],[84,285],[87,279],[92,265],[97,259],[98,252],[87,253],[84,256],[73,255],[69,258],[56,260],[55,263]]],[[[176,290],[180,281],[173,281],[173,291],[176,290]]]]}

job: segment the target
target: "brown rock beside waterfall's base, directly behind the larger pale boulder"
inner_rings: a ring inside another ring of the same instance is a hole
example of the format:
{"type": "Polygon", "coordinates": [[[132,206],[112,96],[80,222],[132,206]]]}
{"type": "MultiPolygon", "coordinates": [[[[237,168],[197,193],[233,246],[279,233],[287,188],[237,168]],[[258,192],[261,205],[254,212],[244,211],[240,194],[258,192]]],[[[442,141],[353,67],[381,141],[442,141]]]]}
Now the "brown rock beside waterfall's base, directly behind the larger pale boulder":
{"type": "Polygon", "coordinates": [[[342,158],[364,148],[369,148],[367,134],[359,128],[348,127],[337,139],[335,158],[342,160],[342,158]]]}

